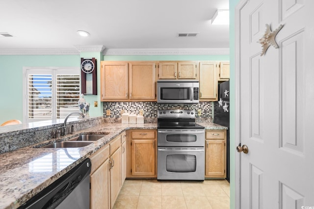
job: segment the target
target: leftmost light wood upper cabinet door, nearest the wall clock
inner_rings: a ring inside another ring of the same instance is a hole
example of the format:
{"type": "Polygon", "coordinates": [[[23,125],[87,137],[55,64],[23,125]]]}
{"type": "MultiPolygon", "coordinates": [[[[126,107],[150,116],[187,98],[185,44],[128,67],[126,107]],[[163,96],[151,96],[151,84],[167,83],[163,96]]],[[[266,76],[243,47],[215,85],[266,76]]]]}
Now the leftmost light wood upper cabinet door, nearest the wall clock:
{"type": "Polygon", "coordinates": [[[129,64],[127,62],[102,62],[102,101],[128,99],[129,64]]]}

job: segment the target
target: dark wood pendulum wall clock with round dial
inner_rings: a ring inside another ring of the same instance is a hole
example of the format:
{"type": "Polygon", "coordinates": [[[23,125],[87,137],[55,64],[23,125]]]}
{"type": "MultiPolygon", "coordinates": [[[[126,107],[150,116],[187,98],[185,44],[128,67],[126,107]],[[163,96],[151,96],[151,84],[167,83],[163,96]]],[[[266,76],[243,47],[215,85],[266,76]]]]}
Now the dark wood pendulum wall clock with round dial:
{"type": "Polygon", "coordinates": [[[81,93],[97,95],[97,60],[80,58],[81,93]]]}

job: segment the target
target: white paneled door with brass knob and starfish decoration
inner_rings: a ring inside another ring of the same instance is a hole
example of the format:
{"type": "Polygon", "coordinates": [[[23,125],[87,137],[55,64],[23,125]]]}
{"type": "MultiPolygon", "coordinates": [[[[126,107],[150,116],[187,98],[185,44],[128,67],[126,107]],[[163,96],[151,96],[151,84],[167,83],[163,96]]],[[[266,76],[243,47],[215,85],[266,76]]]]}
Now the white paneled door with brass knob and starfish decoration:
{"type": "Polygon", "coordinates": [[[314,0],[242,0],[235,12],[235,141],[248,147],[235,156],[236,208],[313,209],[314,0]],[[284,26],[260,56],[265,24],[284,26]]]}

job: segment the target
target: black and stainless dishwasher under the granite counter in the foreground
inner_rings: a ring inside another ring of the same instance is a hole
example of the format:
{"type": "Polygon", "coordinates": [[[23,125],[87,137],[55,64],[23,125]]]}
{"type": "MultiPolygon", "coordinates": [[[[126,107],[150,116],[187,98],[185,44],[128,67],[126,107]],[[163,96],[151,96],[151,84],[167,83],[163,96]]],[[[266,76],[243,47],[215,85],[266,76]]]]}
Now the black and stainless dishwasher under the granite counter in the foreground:
{"type": "Polygon", "coordinates": [[[89,209],[90,171],[87,158],[19,209],[89,209]]]}

